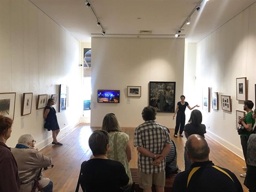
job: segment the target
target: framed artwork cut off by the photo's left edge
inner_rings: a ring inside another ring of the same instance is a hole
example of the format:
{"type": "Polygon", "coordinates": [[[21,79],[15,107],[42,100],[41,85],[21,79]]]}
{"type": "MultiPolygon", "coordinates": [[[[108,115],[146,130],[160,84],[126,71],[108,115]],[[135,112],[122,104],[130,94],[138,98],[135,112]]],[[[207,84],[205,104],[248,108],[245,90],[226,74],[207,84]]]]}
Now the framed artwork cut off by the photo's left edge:
{"type": "Polygon", "coordinates": [[[0,93],[0,115],[14,119],[16,93],[0,93]]]}

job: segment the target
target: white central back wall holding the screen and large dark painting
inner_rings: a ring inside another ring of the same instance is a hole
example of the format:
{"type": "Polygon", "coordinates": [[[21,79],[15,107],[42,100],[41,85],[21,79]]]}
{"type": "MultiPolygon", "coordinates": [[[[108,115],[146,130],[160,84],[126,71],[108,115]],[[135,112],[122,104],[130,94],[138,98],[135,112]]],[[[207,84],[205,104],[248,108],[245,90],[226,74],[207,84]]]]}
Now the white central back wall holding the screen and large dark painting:
{"type": "MultiPolygon", "coordinates": [[[[176,101],[183,94],[184,39],[92,37],[91,126],[101,126],[107,113],[115,113],[122,127],[143,123],[150,81],[176,82],[176,101]],[[141,86],[140,98],[127,98],[127,86],[141,86]],[[120,90],[120,103],[97,103],[98,89],[120,90]]],[[[170,113],[156,121],[174,127],[170,113]]]]}

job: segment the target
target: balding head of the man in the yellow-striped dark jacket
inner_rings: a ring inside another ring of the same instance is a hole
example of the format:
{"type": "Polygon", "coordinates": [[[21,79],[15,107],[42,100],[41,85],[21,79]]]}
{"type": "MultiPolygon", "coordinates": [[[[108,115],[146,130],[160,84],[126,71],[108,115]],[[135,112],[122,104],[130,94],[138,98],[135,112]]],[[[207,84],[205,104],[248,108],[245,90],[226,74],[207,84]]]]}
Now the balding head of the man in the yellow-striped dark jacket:
{"type": "MultiPolygon", "coordinates": [[[[194,159],[204,159],[209,155],[209,147],[206,142],[206,140],[198,134],[196,135],[197,139],[202,140],[202,145],[194,145],[193,139],[191,139],[191,135],[188,137],[188,140],[186,142],[186,150],[188,151],[189,155],[194,159]]],[[[193,137],[194,138],[194,137],[193,137]]]]}

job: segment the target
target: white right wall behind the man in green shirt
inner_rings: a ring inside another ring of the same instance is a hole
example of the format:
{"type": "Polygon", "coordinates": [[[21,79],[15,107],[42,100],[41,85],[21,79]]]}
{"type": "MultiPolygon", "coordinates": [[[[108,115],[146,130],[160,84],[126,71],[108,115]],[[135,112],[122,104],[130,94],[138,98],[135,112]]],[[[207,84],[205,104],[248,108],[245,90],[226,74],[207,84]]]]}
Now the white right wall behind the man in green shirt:
{"type": "Polygon", "coordinates": [[[223,111],[220,103],[219,110],[211,109],[210,113],[203,111],[207,134],[243,157],[239,135],[235,130],[236,110],[243,110],[243,101],[236,100],[236,78],[247,77],[248,99],[255,104],[256,3],[198,42],[196,49],[195,74],[190,76],[197,77],[196,98],[202,98],[203,87],[212,87],[212,91],[219,93],[219,98],[220,95],[230,95],[232,102],[231,113],[223,111]]]}

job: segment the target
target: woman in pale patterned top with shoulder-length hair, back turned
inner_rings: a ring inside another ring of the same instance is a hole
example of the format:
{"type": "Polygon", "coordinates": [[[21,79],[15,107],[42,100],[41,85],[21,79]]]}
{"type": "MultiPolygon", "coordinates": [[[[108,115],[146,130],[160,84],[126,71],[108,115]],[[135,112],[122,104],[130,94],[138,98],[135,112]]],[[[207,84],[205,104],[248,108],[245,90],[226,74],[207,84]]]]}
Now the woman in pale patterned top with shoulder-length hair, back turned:
{"type": "Polygon", "coordinates": [[[132,183],[132,175],[129,167],[129,162],[132,158],[129,135],[121,132],[121,127],[119,126],[117,118],[113,113],[105,115],[101,129],[109,133],[110,153],[108,154],[108,158],[119,161],[124,165],[125,171],[130,180],[129,182],[132,183]]]}

